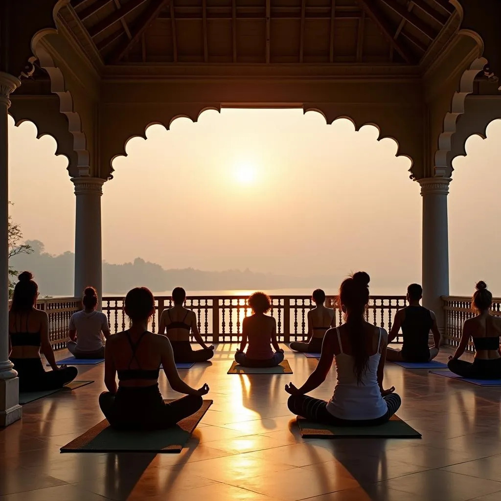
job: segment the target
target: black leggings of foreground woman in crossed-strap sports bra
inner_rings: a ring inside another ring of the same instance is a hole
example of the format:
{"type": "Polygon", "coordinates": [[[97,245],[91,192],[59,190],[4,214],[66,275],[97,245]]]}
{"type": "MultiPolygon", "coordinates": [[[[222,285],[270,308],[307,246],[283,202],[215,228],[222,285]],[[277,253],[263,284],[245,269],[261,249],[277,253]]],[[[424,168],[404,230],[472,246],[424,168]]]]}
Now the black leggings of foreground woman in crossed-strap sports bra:
{"type": "Polygon", "coordinates": [[[184,397],[165,403],[158,383],[146,387],[120,386],[115,395],[104,391],[99,406],[111,426],[119,429],[155,430],[174,426],[202,406],[200,396],[184,397]]]}

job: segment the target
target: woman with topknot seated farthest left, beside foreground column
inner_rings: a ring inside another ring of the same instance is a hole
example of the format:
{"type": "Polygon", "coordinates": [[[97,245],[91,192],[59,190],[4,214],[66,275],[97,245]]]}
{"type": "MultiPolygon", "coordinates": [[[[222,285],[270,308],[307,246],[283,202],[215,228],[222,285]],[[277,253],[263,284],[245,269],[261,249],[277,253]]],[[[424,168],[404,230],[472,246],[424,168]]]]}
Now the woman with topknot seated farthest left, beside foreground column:
{"type": "Polygon", "coordinates": [[[37,310],[38,285],[30,272],[23,272],[14,288],[9,311],[9,358],[18,372],[19,391],[62,388],[78,374],[76,367],[58,367],[49,339],[49,316],[37,310]],[[46,371],[45,355],[52,371],[46,371]]]}

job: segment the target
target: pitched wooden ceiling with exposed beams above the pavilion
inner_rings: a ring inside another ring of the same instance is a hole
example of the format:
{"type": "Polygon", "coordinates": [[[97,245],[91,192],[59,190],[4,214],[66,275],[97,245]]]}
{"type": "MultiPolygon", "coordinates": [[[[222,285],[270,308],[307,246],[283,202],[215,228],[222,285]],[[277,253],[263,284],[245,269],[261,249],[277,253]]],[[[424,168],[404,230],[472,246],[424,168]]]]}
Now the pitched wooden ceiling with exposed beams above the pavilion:
{"type": "Polygon", "coordinates": [[[417,64],[448,0],[71,0],[106,64],[417,64]]]}

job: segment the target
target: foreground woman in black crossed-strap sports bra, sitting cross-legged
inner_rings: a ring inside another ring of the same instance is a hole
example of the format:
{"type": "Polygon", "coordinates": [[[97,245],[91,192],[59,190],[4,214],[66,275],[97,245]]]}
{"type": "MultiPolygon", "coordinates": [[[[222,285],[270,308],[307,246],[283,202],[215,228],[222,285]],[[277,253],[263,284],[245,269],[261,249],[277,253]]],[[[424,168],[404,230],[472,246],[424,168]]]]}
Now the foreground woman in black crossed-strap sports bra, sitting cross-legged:
{"type": "Polygon", "coordinates": [[[131,327],[110,336],[106,343],[104,383],[99,406],[110,425],[120,429],[154,430],[174,426],[202,406],[204,384],[195,390],[177,373],[170,341],[148,331],[155,300],[145,287],[132,289],[124,302],[131,327]],[[160,364],[171,388],[184,397],[169,403],[158,389],[160,364]],[[115,376],[118,374],[118,388],[115,376]]]}

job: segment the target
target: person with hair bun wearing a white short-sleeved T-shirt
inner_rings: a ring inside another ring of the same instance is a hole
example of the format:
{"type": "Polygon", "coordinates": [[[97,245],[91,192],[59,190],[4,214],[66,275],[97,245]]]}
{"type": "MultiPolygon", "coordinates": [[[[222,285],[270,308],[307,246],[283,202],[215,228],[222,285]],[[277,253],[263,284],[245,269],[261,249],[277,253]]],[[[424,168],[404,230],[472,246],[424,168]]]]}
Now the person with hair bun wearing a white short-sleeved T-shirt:
{"type": "Polygon", "coordinates": [[[82,299],[84,309],[71,316],[68,350],[75,358],[104,358],[102,336],[108,339],[110,328],[106,315],[96,311],[97,301],[96,289],[87,287],[82,299]]]}

